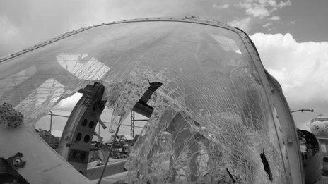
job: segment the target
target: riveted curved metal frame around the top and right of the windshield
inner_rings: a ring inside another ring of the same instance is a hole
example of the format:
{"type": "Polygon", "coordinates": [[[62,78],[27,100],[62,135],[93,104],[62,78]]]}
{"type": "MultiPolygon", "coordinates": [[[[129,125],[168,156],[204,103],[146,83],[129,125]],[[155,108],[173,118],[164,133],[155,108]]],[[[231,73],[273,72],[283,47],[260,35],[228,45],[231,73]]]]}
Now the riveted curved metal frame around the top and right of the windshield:
{"type": "MultiPolygon", "coordinates": [[[[40,44],[35,44],[33,47],[30,47],[28,49],[24,49],[23,51],[19,51],[15,54],[5,56],[4,58],[0,59],[0,63],[6,62],[6,61],[8,61],[8,59],[13,59],[16,56],[20,56],[22,54],[28,53],[29,51],[33,51],[33,50],[38,49],[40,47],[44,47],[47,44],[51,44],[53,42],[57,42],[57,41],[59,41],[61,39],[64,39],[66,37],[76,35],[79,32],[90,30],[94,27],[100,27],[100,26],[103,26],[103,25],[122,24],[122,23],[154,22],[154,21],[197,23],[197,24],[202,24],[202,25],[221,27],[223,29],[227,29],[227,30],[235,32],[240,37],[243,44],[245,44],[247,52],[250,55],[250,59],[252,59],[252,61],[253,61],[252,63],[254,63],[254,66],[257,70],[257,73],[259,73],[259,75],[260,75],[260,78],[261,78],[260,83],[264,87],[264,91],[265,91],[265,94],[266,94],[266,99],[268,101],[269,108],[271,110],[271,116],[274,119],[274,126],[275,126],[275,130],[276,130],[276,135],[278,136],[277,138],[279,140],[281,155],[284,156],[284,157],[285,156],[287,157],[288,155],[291,155],[291,154],[295,154],[295,153],[297,154],[297,151],[299,151],[298,140],[297,139],[294,140],[293,138],[291,140],[292,142],[294,141],[293,145],[297,145],[297,147],[298,147],[298,149],[297,149],[297,148],[295,148],[295,146],[288,145],[289,144],[289,142],[288,142],[289,137],[288,136],[292,136],[292,135],[289,135],[287,132],[281,133],[281,129],[283,129],[283,128],[281,128],[281,127],[283,127],[283,125],[281,123],[284,123],[284,121],[288,122],[288,128],[291,128],[292,130],[295,130],[295,127],[293,127],[293,118],[291,117],[290,110],[288,108],[288,104],[286,102],[286,99],[284,99],[284,97],[283,97],[283,94],[281,92],[281,88],[279,87],[279,85],[277,85],[276,80],[274,80],[274,78],[272,78],[270,75],[268,75],[268,73],[266,73],[266,71],[264,70],[264,67],[261,63],[261,59],[259,58],[259,54],[257,52],[257,49],[254,46],[254,44],[252,43],[250,37],[245,32],[243,32],[242,30],[240,30],[238,28],[235,28],[235,27],[230,27],[229,25],[226,25],[226,24],[221,23],[221,22],[200,20],[198,18],[141,18],[141,19],[134,19],[134,20],[122,20],[122,21],[119,21],[119,22],[112,22],[112,23],[104,23],[104,24],[101,24],[101,25],[83,27],[83,28],[78,29],[78,30],[73,30],[71,32],[66,32],[64,35],[60,35],[59,37],[49,39],[49,40],[47,40],[45,42],[42,42],[40,44]],[[275,90],[276,97],[272,97],[274,95],[273,92],[272,92],[272,89],[275,90]],[[286,111],[285,113],[276,112],[276,114],[275,114],[275,111],[276,111],[275,108],[278,109],[277,104],[279,104],[280,106],[284,106],[289,111],[286,111]],[[275,118],[275,116],[279,116],[279,118],[275,118]],[[280,117],[282,117],[282,118],[280,118],[280,117]],[[284,148],[284,147],[288,147],[288,146],[293,147],[293,152],[288,151],[289,149],[284,148]]],[[[299,152],[298,152],[298,154],[299,154],[299,152]]],[[[291,161],[288,160],[288,159],[283,159],[283,163],[284,163],[284,166],[285,166],[286,176],[290,177],[290,178],[288,178],[288,181],[293,181],[293,183],[304,183],[303,177],[297,178],[298,176],[303,176],[303,167],[300,166],[299,169],[295,169],[295,167],[294,167],[298,164],[299,165],[301,164],[300,158],[295,159],[293,163],[291,163],[291,161]],[[291,169],[291,168],[293,168],[293,169],[291,169]],[[293,173],[291,174],[291,176],[289,176],[287,173],[291,173],[291,172],[293,172],[293,173]]]]}

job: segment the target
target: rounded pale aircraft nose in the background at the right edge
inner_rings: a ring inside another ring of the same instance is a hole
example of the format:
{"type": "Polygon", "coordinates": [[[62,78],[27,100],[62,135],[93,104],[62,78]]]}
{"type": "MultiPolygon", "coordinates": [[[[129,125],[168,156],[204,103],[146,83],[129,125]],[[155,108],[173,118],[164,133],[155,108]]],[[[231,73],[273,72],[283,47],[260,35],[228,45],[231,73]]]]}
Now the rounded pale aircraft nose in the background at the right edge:
{"type": "Polygon", "coordinates": [[[310,130],[315,137],[328,138],[328,116],[320,114],[310,121],[310,130]]]}

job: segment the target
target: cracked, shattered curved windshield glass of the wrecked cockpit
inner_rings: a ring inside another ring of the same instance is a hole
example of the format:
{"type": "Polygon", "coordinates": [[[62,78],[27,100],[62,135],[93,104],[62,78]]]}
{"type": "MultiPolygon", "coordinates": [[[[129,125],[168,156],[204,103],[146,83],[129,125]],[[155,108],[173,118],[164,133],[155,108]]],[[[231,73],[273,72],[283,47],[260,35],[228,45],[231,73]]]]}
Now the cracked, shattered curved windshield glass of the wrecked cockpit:
{"type": "Polygon", "coordinates": [[[149,83],[161,82],[126,164],[128,183],[286,183],[253,62],[222,27],[102,25],[1,62],[0,104],[34,126],[61,99],[101,82],[115,130],[149,83]]]}

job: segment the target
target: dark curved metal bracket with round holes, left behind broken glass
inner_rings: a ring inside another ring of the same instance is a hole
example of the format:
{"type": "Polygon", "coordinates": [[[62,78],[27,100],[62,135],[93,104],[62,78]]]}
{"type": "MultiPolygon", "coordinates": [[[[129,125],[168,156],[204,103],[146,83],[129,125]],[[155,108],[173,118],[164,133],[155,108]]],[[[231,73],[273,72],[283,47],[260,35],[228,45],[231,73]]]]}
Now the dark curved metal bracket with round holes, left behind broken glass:
{"type": "Polygon", "coordinates": [[[100,120],[100,114],[106,102],[102,100],[105,87],[95,82],[94,85],[87,85],[78,92],[83,93],[83,96],[67,120],[57,152],[76,170],[86,175],[88,154],[95,127],[99,122],[102,128],[106,128],[100,120]]]}

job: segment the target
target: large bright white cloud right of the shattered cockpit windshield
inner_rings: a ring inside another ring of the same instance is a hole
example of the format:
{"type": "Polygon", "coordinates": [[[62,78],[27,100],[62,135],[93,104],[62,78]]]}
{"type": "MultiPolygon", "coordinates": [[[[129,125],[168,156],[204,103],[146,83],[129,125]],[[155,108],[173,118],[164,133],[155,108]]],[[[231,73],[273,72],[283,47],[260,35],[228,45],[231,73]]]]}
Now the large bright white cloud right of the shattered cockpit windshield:
{"type": "Polygon", "coordinates": [[[289,33],[251,38],[289,101],[328,102],[328,42],[296,42],[289,33]]]}

